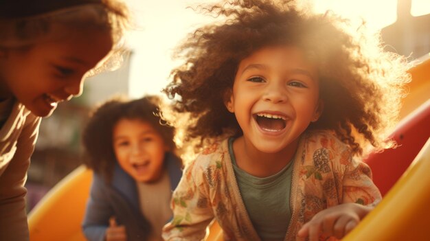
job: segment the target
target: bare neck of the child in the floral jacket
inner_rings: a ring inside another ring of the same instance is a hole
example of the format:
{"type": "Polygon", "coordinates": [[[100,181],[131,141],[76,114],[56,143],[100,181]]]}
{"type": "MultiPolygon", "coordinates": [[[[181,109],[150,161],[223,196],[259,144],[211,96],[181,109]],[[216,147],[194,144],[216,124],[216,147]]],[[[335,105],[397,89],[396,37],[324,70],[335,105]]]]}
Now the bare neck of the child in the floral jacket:
{"type": "Polygon", "coordinates": [[[233,150],[236,165],[248,174],[258,177],[272,176],[292,161],[299,144],[299,138],[280,152],[261,152],[245,138],[234,140],[233,150]]]}

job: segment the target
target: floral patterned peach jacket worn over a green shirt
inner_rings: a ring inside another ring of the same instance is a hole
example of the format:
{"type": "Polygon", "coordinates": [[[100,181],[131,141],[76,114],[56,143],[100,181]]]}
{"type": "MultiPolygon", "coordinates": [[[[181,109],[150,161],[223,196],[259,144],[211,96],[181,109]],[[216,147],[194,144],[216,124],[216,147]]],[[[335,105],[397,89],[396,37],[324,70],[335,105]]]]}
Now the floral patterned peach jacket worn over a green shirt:
{"type": "MultiPolygon", "coordinates": [[[[228,141],[207,148],[184,170],[172,196],[174,217],[165,240],[203,240],[215,218],[225,240],[260,240],[245,209],[231,164],[228,141]]],[[[291,220],[284,240],[319,211],[341,203],[376,205],[381,193],[370,168],[328,131],[304,133],[293,163],[291,220]]]]}

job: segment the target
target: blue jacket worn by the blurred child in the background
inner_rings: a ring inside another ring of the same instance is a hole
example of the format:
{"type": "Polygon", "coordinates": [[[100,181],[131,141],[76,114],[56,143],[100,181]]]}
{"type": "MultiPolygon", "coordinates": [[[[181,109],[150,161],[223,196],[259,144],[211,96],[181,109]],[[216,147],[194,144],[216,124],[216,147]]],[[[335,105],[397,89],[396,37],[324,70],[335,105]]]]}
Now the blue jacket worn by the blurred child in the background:
{"type": "MultiPolygon", "coordinates": [[[[182,176],[179,161],[166,153],[166,168],[172,191],[182,176]]],[[[84,235],[90,241],[102,241],[109,227],[109,218],[115,216],[117,223],[126,227],[128,240],[146,240],[150,225],[142,215],[135,180],[120,165],[115,165],[112,182],[94,173],[87,210],[82,223],[84,235]]]]}

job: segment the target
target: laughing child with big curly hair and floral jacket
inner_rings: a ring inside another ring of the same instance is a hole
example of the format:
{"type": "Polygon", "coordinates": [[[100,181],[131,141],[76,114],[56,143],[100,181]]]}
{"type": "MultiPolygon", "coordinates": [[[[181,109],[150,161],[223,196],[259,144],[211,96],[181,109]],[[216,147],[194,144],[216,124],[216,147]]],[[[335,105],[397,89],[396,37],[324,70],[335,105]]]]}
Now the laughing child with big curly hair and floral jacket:
{"type": "Polygon", "coordinates": [[[181,45],[165,89],[190,118],[185,143],[203,151],[185,167],[163,238],[202,240],[214,218],[225,240],[342,238],[381,200],[359,160],[368,144],[393,145],[384,139],[404,60],[364,26],[294,1],[202,9],[226,19],[181,45]]]}

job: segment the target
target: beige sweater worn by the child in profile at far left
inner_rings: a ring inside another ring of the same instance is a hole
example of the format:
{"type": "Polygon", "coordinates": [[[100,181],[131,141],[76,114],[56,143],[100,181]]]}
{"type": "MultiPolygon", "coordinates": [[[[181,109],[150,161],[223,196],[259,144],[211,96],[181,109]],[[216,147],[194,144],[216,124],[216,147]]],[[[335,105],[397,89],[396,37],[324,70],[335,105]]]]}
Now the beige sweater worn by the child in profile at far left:
{"type": "Polygon", "coordinates": [[[28,240],[24,183],[40,117],[15,102],[0,130],[0,240],[28,240]]]}

